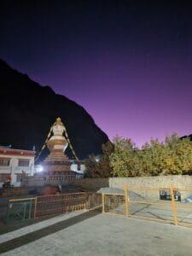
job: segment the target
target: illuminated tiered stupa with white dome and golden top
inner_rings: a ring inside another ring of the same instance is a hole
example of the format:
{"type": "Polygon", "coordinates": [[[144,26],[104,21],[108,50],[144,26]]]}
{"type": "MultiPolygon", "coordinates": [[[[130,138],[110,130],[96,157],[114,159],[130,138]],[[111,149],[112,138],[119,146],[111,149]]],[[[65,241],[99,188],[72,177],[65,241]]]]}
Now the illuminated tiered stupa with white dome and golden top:
{"type": "Polygon", "coordinates": [[[44,172],[48,175],[70,175],[75,173],[70,170],[71,161],[65,154],[68,146],[67,139],[63,136],[65,127],[61,118],[57,118],[52,128],[53,136],[46,143],[49,155],[43,162],[44,172]]]}

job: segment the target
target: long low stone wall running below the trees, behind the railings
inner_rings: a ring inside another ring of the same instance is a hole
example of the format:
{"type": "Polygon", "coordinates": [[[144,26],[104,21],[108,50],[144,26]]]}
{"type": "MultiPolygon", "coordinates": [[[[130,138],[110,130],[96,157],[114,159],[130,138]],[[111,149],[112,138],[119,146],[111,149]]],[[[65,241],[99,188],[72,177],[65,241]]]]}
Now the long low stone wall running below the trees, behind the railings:
{"type": "MultiPolygon", "coordinates": [[[[110,187],[110,188],[119,188],[124,189],[125,184],[128,184],[130,187],[137,188],[146,188],[146,189],[157,189],[156,191],[147,191],[142,193],[141,191],[135,192],[144,197],[160,197],[160,188],[170,188],[173,186],[175,189],[192,189],[192,176],[189,175],[172,175],[172,176],[154,176],[154,177],[109,177],[109,178],[82,178],[82,179],[68,179],[68,180],[57,180],[49,179],[42,177],[41,180],[36,177],[29,179],[26,186],[44,186],[46,184],[51,185],[76,185],[84,191],[97,191],[101,188],[110,187]],[[148,195],[148,196],[147,196],[148,195]]],[[[132,189],[133,191],[133,189],[132,189]]],[[[192,191],[181,191],[182,199],[186,196],[192,195],[192,191]]]]}

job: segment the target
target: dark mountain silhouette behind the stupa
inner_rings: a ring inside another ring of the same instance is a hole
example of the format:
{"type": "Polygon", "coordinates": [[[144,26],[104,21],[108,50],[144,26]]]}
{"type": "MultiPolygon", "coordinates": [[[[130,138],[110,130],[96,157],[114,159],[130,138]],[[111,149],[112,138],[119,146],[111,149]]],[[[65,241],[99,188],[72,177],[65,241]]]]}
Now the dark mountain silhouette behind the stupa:
{"type": "Polygon", "coordinates": [[[32,81],[2,60],[0,86],[0,145],[12,144],[12,148],[22,149],[32,149],[35,145],[38,151],[50,126],[60,116],[79,159],[92,153],[101,154],[102,143],[108,137],[76,102],[32,81]]]}

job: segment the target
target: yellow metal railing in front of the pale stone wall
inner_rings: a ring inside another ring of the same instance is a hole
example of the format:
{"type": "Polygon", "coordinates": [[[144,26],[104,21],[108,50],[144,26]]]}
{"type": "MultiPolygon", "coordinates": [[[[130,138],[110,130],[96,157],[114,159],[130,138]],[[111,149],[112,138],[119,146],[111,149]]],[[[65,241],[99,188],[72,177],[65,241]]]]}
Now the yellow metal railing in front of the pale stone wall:
{"type": "Polygon", "coordinates": [[[124,194],[102,194],[102,212],[192,227],[192,196],[190,200],[189,195],[192,189],[125,185],[124,194]],[[160,196],[161,191],[164,196],[160,196]]]}

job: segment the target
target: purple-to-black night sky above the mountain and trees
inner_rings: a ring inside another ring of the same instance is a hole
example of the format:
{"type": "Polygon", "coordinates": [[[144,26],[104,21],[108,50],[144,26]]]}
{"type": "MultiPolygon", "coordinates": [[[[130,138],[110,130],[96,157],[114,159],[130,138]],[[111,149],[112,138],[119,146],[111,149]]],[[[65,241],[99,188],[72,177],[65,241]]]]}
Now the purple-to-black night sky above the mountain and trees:
{"type": "Polygon", "coordinates": [[[192,133],[190,1],[51,2],[1,1],[0,58],[78,102],[110,138],[192,133]]]}

